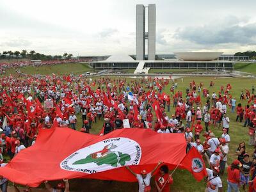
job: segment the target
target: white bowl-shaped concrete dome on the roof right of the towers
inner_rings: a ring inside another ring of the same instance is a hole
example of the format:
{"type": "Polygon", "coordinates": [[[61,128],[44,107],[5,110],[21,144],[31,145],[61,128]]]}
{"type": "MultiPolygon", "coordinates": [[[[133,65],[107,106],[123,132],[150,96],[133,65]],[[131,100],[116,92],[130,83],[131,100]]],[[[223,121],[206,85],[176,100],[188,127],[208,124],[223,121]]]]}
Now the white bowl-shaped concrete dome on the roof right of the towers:
{"type": "Polygon", "coordinates": [[[184,61],[211,61],[218,60],[223,52],[174,52],[179,60],[184,61]]]}

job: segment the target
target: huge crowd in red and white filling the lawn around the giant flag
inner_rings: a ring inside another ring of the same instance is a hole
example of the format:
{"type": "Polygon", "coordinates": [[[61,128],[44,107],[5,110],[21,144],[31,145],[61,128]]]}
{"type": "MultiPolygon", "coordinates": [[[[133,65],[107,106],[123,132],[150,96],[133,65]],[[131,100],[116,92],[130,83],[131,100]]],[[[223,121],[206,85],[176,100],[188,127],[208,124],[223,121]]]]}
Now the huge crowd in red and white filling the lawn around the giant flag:
{"type": "MultiPolygon", "coordinates": [[[[253,155],[246,153],[246,144],[241,142],[236,150],[237,159],[232,159],[233,163],[226,167],[232,142],[228,114],[236,113],[236,121],[244,121],[250,138],[248,144],[256,146],[254,95],[247,95],[248,105],[243,108],[232,97],[229,83],[221,86],[220,92],[212,92],[214,81],[209,85],[203,82],[196,85],[191,81],[184,93],[172,77],[127,81],[109,77],[26,75],[3,77],[0,84],[1,163],[6,163],[4,157],[12,159],[24,148],[34,145],[40,129],[58,126],[90,133],[94,124],[104,121],[100,135],[128,127],[152,129],[159,134],[184,134],[187,152],[195,147],[209,161],[205,191],[223,191],[221,177],[225,172],[228,191],[238,191],[239,186],[256,190],[256,150],[253,155]],[[168,85],[170,90],[166,90],[168,85]],[[206,101],[204,104],[201,98],[206,101]],[[218,129],[222,130],[220,138],[214,134],[218,129]]],[[[254,88],[252,90],[254,92],[254,88]]],[[[241,97],[243,99],[246,98],[241,97]]],[[[157,169],[157,191],[170,191],[173,179],[164,163],[159,162],[151,172],[142,170],[141,174],[127,167],[138,179],[139,191],[150,191],[150,179],[157,169]]],[[[6,182],[7,179],[0,180],[2,191],[6,182]]],[[[67,184],[67,180],[64,182],[67,184]]]]}

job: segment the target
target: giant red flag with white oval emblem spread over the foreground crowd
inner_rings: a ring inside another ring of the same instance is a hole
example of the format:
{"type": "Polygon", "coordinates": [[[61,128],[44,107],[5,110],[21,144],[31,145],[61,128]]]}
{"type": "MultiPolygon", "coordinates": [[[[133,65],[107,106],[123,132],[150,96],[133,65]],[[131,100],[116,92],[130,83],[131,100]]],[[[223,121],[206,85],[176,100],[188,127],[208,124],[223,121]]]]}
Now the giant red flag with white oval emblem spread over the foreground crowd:
{"type": "Polygon", "coordinates": [[[97,136],[57,127],[40,129],[35,145],[20,151],[10,163],[1,167],[0,175],[31,187],[37,187],[44,180],[63,178],[135,182],[136,177],[125,166],[132,166],[135,173],[144,169],[150,171],[161,157],[172,170],[185,156],[184,134],[117,129],[97,136]]]}

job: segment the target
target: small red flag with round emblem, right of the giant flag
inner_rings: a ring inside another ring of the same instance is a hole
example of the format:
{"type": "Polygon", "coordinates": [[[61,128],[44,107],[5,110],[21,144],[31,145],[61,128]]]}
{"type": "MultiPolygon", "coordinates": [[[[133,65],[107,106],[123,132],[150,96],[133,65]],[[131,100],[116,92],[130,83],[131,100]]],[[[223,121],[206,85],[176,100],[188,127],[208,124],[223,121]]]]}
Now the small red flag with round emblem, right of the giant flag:
{"type": "Polygon", "coordinates": [[[192,173],[192,175],[198,181],[207,176],[204,160],[195,147],[192,147],[189,150],[188,154],[180,164],[186,168],[186,170],[192,173]]]}

